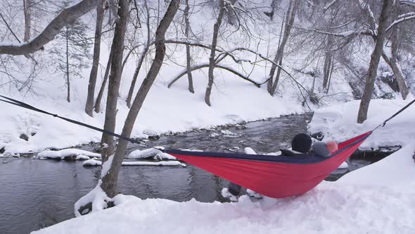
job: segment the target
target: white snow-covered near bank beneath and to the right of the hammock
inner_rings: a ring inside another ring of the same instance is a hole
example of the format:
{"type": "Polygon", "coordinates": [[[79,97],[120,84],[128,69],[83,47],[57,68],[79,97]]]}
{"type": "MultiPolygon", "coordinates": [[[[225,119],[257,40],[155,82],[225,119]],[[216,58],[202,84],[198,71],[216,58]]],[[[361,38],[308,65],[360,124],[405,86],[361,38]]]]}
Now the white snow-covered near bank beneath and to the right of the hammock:
{"type": "MultiPolygon", "coordinates": [[[[363,125],[355,124],[356,112],[351,113],[358,101],[321,109],[309,128],[335,139],[352,137],[407,102],[372,100],[363,125]],[[328,116],[338,119],[329,121],[328,116]]],[[[414,113],[415,106],[409,107],[366,144],[400,143],[402,149],[336,182],[324,181],[305,195],[257,202],[242,196],[223,204],[118,195],[114,208],[34,233],[415,233],[414,113]]]]}

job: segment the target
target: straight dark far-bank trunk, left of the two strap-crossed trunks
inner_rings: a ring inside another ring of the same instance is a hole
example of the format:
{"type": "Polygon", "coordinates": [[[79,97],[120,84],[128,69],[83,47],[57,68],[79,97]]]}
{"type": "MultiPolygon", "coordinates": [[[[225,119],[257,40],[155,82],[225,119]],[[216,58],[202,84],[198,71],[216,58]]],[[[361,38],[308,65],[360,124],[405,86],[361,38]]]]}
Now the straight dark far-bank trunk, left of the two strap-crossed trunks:
{"type": "Polygon", "coordinates": [[[95,25],[95,39],[94,39],[94,57],[92,60],[91,73],[89,74],[87,103],[85,104],[85,113],[93,117],[92,109],[94,108],[96,75],[98,73],[99,53],[101,49],[101,31],[103,22],[103,8],[104,1],[99,0],[96,5],[96,25],[95,25]]]}

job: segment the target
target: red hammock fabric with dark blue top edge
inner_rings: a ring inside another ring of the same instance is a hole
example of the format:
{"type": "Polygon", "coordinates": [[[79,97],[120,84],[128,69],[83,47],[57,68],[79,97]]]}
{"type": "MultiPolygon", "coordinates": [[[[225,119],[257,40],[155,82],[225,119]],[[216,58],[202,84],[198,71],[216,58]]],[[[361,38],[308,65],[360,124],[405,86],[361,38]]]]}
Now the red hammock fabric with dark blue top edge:
{"type": "Polygon", "coordinates": [[[267,197],[283,198],[302,195],[316,187],[350,157],[371,133],[339,143],[338,151],[330,157],[314,154],[270,156],[180,150],[164,152],[267,197]]]}

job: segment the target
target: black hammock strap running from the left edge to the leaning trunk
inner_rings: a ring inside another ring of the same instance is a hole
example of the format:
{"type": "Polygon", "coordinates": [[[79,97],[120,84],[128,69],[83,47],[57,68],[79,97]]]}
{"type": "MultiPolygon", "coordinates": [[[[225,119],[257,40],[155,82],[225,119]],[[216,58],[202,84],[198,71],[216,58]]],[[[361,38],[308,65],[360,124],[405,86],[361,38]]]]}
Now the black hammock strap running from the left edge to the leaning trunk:
{"type": "Polygon", "coordinates": [[[93,130],[96,130],[96,131],[98,131],[98,132],[104,133],[104,134],[106,134],[106,135],[112,135],[112,136],[114,136],[114,137],[118,137],[118,138],[120,138],[120,139],[122,139],[122,140],[127,140],[127,141],[129,141],[129,142],[133,142],[133,143],[136,143],[136,144],[140,144],[140,142],[139,142],[139,141],[134,140],[134,139],[132,139],[132,138],[130,138],[130,137],[126,137],[126,136],[123,136],[123,135],[119,135],[119,134],[117,134],[117,133],[113,133],[113,132],[110,132],[110,131],[105,130],[105,129],[96,128],[96,127],[94,127],[93,125],[89,125],[89,124],[87,124],[87,123],[82,123],[82,122],[79,122],[79,121],[74,121],[74,120],[72,120],[72,119],[70,119],[70,118],[65,118],[65,117],[62,117],[62,116],[58,116],[56,113],[49,113],[49,112],[47,112],[47,111],[44,111],[44,110],[41,110],[41,109],[37,109],[37,108],[36,108],[36,107],[34,107],[34,106],[30,106],[29,104],[25,104],[25,103],[24,103],[24,102],[22,102],[22,101],[18,101],[18,100],[15,100],[15,99],[11,99],[10,97],[5,97],[5,96],[3,96],[3,95],[0,95],[0,97],[2,97],[2,98],[4,98],[4,99],[6,99],[6,100],[4,100],[4,99],[0,99],[0,101],[7,102],[8,104],[13,104],[13,105],[15,105],[15,106],[20,106],[20,107],[23,107],[23,108],[25,108],[25,109],[30,109],[30,110],[32,110],[32,111],[37,111],[37,112],[40,112],[40,113],[45,113],[46,115],[53,116],[53,117],[56,117],[56,118],[60,118],[60,119],[63,119],[64,121],[68,121],[68,122],[70,122],[70,123],[75,123],[75,124],[77,124],[77,125],[81,125],[81,126],[84,126],[84,127],[87,127],[87,128],[91,128],[91,129],[93,129],[93,130]]]}

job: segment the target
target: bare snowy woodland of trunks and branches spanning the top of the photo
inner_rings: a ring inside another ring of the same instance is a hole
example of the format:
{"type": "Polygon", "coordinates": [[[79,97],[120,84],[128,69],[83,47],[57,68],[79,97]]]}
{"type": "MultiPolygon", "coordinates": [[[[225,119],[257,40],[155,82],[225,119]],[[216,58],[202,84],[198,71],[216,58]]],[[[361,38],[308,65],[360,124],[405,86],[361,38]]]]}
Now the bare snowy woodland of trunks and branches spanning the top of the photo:
{"type": "MultiPolygon", "coordinates": [[[[32,84],[53,70],[65,80],[71,101],[71,80],[87,79],[85,113],[94,118],[94,111],[104,110],[104,129],[114,132],[117,105],[124,103],[127,137],[167,62],[182,68],[165,77],[168,87],[186,77],[192,94],[194,73],[207,68],[208,106],[215,106],[217,70],[253,89],[264,86],[273,97],[293,87],[308,108],[335,97],[335,85],[345,84],[361,99],[358,123],[366,120],[371,99],[387,97],[378,91],[382,87],[393,90],[393,98],[414,92],[414,1],[0,0],[0,5],[0,87],[35,94],[32,84]],[[134,73],[125,72],[126,64],[133,64],[134,73]],[[120,90],[122,83],[127,90],[120,90]]],[[[108,197],[117,195],[126,147],[127,141],[115,146],[112,136],[102,135],[103,163],[110,169],[101,188],[108,197]]]]}

